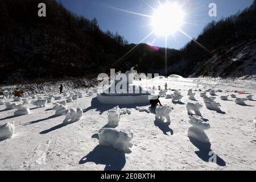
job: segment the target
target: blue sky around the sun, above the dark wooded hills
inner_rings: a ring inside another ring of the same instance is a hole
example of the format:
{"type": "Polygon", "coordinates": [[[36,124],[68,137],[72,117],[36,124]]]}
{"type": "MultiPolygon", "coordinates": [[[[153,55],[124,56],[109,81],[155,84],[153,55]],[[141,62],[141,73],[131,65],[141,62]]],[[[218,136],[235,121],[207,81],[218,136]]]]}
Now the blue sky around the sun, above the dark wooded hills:
{"type": "MultiPolygon", "coordinates": [[[[118,32],[124,36],[129,43],[139,43],[152,30],[151,19],[145,16],[134,15],[112,9],[134,11],[136,13],[152,15],[153,10],[146,5],[157,9],[159,7],[158,0],[59,0],[67,9],[71,10],[77,15],[83,15],[85,18],[97,18],[98,24],[103,31],[110,30],[118,32]],[[146,3],[144,3],[144,2],[146,3]]],[[[161,3],[167,0],[159,0],[161,3]]],[[[219,20],[236,14],[238,10],[243,10],[253,3],[253,0],[168,0],[170,2],[177,2],[183,6],[185,15],[185,22],[181,30],[187,33],[192,38],[196,38],[205,25],[212,20],[219,20]],[[216,3],[217,17],[210,17],[209,3],[216,3]]],[[[230,35],[231,36],[231,35],[230,35]]],[[[181,32],[175,32],[174,36],[168,36],[167,47],[180,49],[188,43],[190,39],[184,36],[181,32]]],[[[144,43],[154,43],[155,46],[164,47],[165,38],[152,34],[144,43]]],[[[204,45],[207,47],[207,45],[204,45]]]]}

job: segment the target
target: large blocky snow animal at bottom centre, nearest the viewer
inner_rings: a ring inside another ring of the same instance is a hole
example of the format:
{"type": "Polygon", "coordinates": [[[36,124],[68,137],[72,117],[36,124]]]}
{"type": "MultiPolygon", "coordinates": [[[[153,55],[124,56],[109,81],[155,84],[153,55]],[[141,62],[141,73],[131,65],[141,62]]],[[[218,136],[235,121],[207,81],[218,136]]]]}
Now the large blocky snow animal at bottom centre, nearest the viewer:
{"type": "Polygon", "coordinates": [[[102,146],[113,147],[115,150],[129,152],[133,147],[131,139],[133,139],[133,133],[126,133],[117,129],[102,129],[98,133],[98,143],[102,146]]]}

